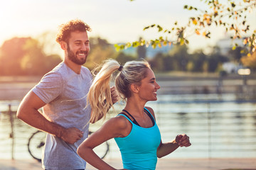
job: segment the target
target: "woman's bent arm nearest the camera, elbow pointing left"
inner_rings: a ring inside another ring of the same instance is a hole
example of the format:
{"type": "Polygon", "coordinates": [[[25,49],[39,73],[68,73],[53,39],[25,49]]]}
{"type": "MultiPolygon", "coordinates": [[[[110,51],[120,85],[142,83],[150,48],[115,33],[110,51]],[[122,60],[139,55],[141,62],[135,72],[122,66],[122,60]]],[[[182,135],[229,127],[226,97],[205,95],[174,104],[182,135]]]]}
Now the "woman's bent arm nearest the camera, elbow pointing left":
{"type": "Polygon", "coordinates": [[[92,166],[95,166],[96,169],[114,169],[114,167],[100,159],[92,149],[114,137],[123,137],[122,134],[126,129],[127,122],[123,118],[115,117],[107,120],[99,130],[92,133],[92,135],[78,147],[79,156],[92,166]]]}

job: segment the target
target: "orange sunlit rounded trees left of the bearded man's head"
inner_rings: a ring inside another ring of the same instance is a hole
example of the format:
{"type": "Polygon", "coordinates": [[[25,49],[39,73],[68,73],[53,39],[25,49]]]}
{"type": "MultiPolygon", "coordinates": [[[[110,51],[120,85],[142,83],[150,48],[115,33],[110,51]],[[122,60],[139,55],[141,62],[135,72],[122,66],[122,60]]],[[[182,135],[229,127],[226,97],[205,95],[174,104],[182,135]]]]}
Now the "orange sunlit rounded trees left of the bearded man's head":
{"type": "Polygon", "coordinates": [[[59,55],[46,55],[36,39],[12,38],[0,49],[0,75],[43,75],[61,61],[59,55]]]}

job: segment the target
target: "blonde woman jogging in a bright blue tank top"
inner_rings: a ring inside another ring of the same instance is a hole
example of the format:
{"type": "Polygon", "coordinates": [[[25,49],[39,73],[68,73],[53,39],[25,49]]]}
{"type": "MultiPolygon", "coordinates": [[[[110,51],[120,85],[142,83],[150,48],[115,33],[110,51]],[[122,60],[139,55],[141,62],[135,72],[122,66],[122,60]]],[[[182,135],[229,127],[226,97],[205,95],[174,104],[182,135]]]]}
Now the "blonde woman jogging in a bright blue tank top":
{"type": "Polygon", "coordinates": [[[90,122],[105,118],[112,106],[110,79],[117,70],[119,73],[115,86],[121,98],[126,101],[126,106],[121,113],[107,120],[97,132],[82,142],[78,154],[97,169],[114,169],[92,150],[114,138],[122,154],[124,169],[156,169],[157,157],[164,157],[178,147],[188,147],[191,143],[185,134],[177,135],[171,142],[161,142],[154,111],[145,107],[147,101],[157,100],[156,91],[160,89],[148,62],[133,61],[120,66],[115,60],[107,60],[102,65],[87,96],[92,108],[90,122]]]}

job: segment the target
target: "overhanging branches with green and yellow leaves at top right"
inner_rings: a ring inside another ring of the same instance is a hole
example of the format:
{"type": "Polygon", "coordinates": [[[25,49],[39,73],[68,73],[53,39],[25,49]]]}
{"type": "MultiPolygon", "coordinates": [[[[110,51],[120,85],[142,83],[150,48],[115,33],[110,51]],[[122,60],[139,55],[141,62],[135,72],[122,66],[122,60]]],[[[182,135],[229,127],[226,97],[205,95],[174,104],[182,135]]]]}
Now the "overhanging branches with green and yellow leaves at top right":
{"type": "MultiPolygon", "coordinates": [[[[129,0],[134,1],[134,0],[129,0]]],[[[138,47],[139,45],[151,44],[153,47],[157,45],[168,45],[170,43],[175,43],[178,45],[188,44],[188,37],[191,34],[203,35],[203,37],[210,38],[210,26],[223,27],[227,33],[232,33],[230,38],[242,38],[250,29],[250,24],[247,23],[247,14],[250,11],[255,10],[256,1],[255,0],[243,0],[243,1],[232,1],[226,0],[221,3],[218,0],[201,0],[203,1],[207,9],[199,9],[194,6],[185,5],[185,10],[198,11],[198,15],[189,18],[188,23],[185,26],[178,26],[178,22],[174,22],[174,27],[171,29],[165,29],[157,24],[151,24],[146,26],[144,30],[149,28],[156,28],[158,32],[166,33],[166,36],[174,37],[173,40],[168,38],[159,37],[156,40],[141,40],[139,42],[127,42],[125,45],[116,45],[117,50],[122,50],[125,47],[138,47]],[[191,32],[191,30],[193,30],[191,32]]],[[[250,36],[246,36],[244,44],[245,55],[255,52],[256,30],[252,31],[250,36]]],[[[235,45],[237,46],[237,45],[235,45]]]]}

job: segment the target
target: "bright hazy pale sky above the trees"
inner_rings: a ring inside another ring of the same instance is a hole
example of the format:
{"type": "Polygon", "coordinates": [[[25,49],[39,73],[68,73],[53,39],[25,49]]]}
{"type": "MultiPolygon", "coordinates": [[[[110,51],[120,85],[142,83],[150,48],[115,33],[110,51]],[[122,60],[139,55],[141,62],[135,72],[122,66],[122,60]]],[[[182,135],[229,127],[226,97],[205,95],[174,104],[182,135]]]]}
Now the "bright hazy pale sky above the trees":
{"type": "MultiPolygon", "coordinates": [[[[195,12],[184,10],[184,5],[206,8],[200,0],[1,0],[0,46],[14,37],[37,38],[46,31],[52,33],[50,40],[55,43],[58,26],[75,18],[92,28],[89,36],[100,36],[113,44],[133,42],[139,37],[156,39],[156,29],[143,28],[153,23],[172,28],[175,21],[185,25],[195,12]]],[[[248,16],[252,30],[256,29],[255,16],[255,12],[248,16]]],[[[198,35],[188,38],[189,48],[206,48],[225,38],[223,29],[211,29],[209,40],[198,35]]]]}

